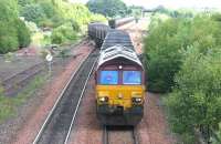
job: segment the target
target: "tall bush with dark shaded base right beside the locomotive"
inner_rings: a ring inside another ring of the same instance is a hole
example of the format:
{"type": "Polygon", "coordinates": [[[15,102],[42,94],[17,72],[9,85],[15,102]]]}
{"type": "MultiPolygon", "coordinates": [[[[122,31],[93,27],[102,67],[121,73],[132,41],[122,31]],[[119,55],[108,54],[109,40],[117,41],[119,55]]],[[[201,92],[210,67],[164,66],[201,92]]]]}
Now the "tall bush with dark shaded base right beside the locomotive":
{"type": "Polygon", "coordinates": [[[181,30],[188,21],[170,19],[152,29],[145,39],[145,58],[148,90],[168,92],[173,85],[173,75],[179,71],[182,42],[188,30],[181,30]]]}

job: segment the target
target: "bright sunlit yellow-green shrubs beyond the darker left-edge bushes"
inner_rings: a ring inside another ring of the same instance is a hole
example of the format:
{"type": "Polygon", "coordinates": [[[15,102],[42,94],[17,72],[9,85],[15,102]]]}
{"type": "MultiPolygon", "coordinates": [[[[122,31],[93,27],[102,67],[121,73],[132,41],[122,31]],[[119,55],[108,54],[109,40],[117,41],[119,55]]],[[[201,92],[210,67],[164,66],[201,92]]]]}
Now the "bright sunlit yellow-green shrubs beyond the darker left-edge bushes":
{"type": "Polygon", "coordinates": [[[63,0],[32,1],[31,3],[25,1],[20,0],[20,3],[23,3],[20,7],[20,14],[25,20],[36,23],[36,27],[42,30],[51,32],[50,34],[42,31],[38,32],[46,39],[43,40],[43,44],[74,42],[78,39],[78,35],[86,31],[88,22],[106,20],[101,14],[93,14],[85,6],[80,3],[63,0]]]}

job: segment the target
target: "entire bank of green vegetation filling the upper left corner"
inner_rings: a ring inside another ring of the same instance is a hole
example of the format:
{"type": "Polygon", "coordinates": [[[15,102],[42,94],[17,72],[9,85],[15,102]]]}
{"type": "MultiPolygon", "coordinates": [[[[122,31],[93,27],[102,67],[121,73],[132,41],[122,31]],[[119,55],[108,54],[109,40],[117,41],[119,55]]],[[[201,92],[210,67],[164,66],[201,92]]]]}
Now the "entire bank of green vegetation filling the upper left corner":
{"type": "Polygon", "coordinates": [[[31,40],[41,45],[74,42],[88,22],[106,21],[84,4],[64,0],[1,0],[0,6],[0,53],[28,47],[31,40]]]}

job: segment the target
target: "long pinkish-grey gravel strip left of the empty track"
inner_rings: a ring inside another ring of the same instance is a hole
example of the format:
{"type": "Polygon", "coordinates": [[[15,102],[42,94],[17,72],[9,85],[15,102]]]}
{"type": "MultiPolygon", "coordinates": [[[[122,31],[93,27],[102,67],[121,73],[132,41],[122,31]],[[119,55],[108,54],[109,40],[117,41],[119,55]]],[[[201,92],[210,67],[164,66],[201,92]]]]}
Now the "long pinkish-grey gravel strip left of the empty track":
{"type": "Polygon", "coordinates": [[[30,100],[18,107],[18,115],[0,125],[0,144],[30,144],[44,122],[48,113],[59,97],[71,74],[80,62],[93,50],[93,45],[84,43],[73,49],[76,58],[66,61],[66,66],[56,64],[53,68],[51,82],[42,85],[30,100]]]}

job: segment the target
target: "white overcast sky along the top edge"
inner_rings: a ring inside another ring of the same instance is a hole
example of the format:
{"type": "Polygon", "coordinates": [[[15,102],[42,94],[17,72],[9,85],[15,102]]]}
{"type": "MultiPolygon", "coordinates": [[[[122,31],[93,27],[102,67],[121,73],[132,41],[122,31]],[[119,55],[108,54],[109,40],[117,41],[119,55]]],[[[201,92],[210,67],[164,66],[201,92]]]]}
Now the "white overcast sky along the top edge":
{"type": "MultiPolygon", "coordinates": [[[[71,0],[86,3],[88,0],[71,0]]],[[[155,8],[162,4],[167,8],[219,8],[221,0],[123,0],[126,4],[144,6],[145,8],[155,8]]]]}

